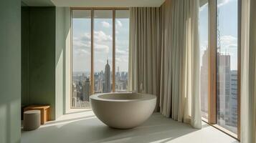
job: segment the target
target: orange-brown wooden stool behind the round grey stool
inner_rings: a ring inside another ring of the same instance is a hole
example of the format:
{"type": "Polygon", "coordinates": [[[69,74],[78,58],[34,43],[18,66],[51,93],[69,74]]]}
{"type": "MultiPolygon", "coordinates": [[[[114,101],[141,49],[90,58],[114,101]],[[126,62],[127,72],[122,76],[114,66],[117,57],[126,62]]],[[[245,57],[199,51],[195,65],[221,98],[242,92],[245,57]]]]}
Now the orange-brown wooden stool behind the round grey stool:
{"type": "Polygon", "coordinates": [[[40,110],[41,112],[41,124],[49,121],[49,105],[31,105],[24,108],[24,112],[28,110],[40,110]]]}

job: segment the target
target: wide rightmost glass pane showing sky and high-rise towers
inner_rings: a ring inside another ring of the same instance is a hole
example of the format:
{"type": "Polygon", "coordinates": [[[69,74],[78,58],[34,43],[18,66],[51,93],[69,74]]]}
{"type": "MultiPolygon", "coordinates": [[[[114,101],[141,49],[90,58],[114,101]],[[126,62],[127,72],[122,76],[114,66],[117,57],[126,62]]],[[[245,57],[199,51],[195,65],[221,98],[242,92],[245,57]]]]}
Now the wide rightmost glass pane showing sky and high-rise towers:
{"type": "Polygon", "coordinates": [[[237,133],[237,0],[217,1],[217,124],[237,133]]]}

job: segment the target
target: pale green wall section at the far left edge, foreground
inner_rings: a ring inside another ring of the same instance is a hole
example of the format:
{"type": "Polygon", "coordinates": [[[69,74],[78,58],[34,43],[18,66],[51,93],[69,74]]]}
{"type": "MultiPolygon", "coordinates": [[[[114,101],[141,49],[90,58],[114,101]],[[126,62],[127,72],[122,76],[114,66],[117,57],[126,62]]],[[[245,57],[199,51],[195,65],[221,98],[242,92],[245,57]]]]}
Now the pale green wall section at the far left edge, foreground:
{"type": "Polygon", "coordinates": [[[20,142],[21,1],[0,1],[0,142],[20,142]]]}

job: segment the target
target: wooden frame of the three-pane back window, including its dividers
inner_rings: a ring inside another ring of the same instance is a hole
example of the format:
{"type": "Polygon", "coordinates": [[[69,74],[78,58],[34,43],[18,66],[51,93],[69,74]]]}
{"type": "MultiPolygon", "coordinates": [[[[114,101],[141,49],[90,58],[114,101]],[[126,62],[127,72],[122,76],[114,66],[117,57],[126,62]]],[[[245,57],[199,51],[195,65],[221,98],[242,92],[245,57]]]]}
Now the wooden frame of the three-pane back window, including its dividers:
{"type": "Polygon", "coordinates": [[[70,57],[71,57],[71,62],[70,62],[70,67],[71,67],[71,71],[70,71],[70,81],[71,81],[71,84],[70,84],[70,108],[71,109],[87,109],[87,108],[91,108],[91,107],[72,107],[72,11],[74,10],[89,10],[90,11],[90,19],[91,19],[91,69],[90,69],[90,84],[91,84],[91,87],[90,87],[90,94],[94,94],[95,91],[94,91],[94,12],[97,11],[97,10],[110,10],[112,11],[112,26],[113,26],[113,44],[112,44],[112,49],[113,49],[113,70],[112,70],[112,92],[115,92],[115,11],[118,11],[118,10],[129,10],[129,8],[127,7],[71,7],[70,8],[70,25],[71,25],[71,36],[70,36],[70,47],[71,47],[71,52],[70,52],[70,57]]]}

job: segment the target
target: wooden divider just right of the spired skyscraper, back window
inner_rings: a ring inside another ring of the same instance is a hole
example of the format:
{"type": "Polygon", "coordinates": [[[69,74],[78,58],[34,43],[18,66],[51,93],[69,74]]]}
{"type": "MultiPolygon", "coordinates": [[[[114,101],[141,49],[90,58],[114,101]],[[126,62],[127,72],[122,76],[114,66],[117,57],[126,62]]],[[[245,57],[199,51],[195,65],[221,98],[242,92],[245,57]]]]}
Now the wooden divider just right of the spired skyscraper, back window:
{"type": "Polygon", "coordinates": [[[113,92],[115,92],[115,10],[113,10],[113,17],[112,17],[113,21],[112,21],[112,24],[113,24],[113,70],[112,70],[112,80],[113,80],[113,85],[112,85],[112,88],[113,88],[113,92]]]}

